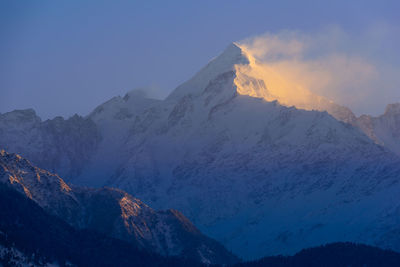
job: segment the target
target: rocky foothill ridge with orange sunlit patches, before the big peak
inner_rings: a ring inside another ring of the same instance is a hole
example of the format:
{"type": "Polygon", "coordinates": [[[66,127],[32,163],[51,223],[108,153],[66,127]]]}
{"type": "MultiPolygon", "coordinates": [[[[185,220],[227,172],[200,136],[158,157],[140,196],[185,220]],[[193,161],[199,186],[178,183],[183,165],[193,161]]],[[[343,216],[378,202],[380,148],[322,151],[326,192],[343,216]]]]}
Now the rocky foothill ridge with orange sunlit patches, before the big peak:
{"type": "Polygon", "coordinates": [[[1,151],[0,181],[77,229],[102,233],[164,256],[204,263],[237,261],[176,210],[155,211],[112,188],[70,187],[59,176],[33,166],[19,155],[1,151]]]}

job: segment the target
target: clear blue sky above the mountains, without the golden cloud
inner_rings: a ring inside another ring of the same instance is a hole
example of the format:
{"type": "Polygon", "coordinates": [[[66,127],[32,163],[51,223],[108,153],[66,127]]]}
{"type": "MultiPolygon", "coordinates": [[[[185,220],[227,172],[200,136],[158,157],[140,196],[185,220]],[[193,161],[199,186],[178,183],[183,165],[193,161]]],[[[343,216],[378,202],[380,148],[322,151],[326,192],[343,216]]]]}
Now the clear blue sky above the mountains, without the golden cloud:
{"type": "MultiPolygon", "coordinates": [[[[369,56],[397,67],[400,41],[391,33],[400,27],[399,11],[399,1],[371,0],[2,0],[0,112],[86,115],[134,88],[163,96],[232,41],[283,30],[313,35],[335,26],[359,36],[385,25],[390,30],[369,56]]],[[[348,46],[370,43],[357,40],[348,46]]]]}

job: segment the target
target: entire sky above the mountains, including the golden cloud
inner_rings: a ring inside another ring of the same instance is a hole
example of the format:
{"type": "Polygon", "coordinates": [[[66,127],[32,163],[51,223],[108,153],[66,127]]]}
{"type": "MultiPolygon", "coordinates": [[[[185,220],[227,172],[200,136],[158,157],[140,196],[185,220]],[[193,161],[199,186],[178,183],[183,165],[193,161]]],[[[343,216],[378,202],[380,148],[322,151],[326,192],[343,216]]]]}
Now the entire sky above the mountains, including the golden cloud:
{"type": "Polygon", "coordinates": [[[377,115],[400,102],[399,10],[385,0],[0,0],[0,113],[87,115],[135,88],[163,98],[231,42],[271,60],[274,40],[289,49],[272,54],[288,77],[377,115]]]}

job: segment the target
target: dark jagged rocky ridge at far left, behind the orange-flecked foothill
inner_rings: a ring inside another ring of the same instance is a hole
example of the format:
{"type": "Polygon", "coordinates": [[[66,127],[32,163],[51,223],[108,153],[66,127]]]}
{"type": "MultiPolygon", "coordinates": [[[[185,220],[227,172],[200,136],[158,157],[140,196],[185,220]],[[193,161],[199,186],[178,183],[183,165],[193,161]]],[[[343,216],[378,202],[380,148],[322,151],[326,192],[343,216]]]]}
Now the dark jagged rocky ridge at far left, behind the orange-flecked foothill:
{"type": "Polygon", "coordinates": [[[42,121],[34,110],[0,114],[0,147],[62,176],[77,176],[101,140],[96,124],[78,115],[42,121]]]}

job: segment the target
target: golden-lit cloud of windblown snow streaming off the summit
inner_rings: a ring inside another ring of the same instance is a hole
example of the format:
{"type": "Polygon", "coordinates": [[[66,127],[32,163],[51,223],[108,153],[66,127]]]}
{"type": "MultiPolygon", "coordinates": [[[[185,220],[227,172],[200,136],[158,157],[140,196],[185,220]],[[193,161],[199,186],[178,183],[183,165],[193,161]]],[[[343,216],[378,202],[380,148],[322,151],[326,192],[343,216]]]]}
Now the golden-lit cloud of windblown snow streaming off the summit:
{"type": "Polygon", "coordinates": [[[314,33],[266,33],[240,43],[290,82],[357,115],[378,115],[387,104],[400,102],[396,31],[379,23],[354,35],[332,26],[314,33]]]}

